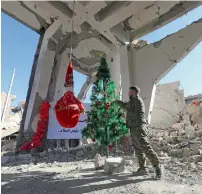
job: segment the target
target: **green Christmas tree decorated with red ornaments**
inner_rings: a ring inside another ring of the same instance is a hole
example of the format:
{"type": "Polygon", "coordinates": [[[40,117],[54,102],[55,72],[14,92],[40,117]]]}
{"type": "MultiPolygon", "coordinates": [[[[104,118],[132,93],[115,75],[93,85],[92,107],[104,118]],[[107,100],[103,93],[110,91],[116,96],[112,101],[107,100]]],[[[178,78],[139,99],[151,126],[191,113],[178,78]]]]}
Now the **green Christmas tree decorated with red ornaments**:
{"type": "Polygon", "coordinates": [[[111,150],[113,144],[128,133],[125,123],[125,113],[114,101],[120,98],[111,79],[106,59],[101,58],[101,64],[96,74],[91,95],[91,111],[87,112],[87,127],[83,129],[83,138],[91,138],[98,145],[111,150]]]}

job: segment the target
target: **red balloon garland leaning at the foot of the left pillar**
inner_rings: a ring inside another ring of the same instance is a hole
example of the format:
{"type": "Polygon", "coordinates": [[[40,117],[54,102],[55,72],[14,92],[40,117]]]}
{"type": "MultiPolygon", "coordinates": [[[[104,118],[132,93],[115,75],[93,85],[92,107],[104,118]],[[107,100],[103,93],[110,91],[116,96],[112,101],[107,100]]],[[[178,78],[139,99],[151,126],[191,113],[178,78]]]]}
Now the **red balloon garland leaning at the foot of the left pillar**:
{"type": "Polygon", "coordinates": [[[47,101],[43,101],[40,106],[40,119],[37,124],[37,132],[32,136],[32,140],[26,141],[24,145],[20,147],[20,151],[31,150],[32,148],[40,147],[41,139],[44,138],[46,132],[46,126],[49,117],[50,104],[47,101]]]}

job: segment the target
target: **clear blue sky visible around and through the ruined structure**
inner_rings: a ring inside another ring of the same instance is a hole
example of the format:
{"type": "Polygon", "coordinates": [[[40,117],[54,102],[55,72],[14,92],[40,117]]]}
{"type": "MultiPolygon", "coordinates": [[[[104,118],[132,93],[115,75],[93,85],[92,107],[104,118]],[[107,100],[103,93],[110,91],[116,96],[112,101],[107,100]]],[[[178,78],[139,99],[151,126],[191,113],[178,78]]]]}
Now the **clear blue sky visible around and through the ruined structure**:
{"type": "MultiPolygon", "coordinates": [[[[158,41],[201,17],[202,6],[163,28],[144,36],[142,39],[147,40],[149,43],[158,41]]],[[[1,88],[2,92],[7,92],[12,76],[12,69],[15,67],[16,75],[11,93],[17,96],[17,99],[13,103],[13,105],[17,105],[19,101],[26,98],[39,35],[4,13],[1,13],[1,22],[1,88]]],[[[160,83],[180,80],[181,88],[185,90],[185,96],[202,93],[201,53],[202,43],[192,50],[160,83]]],[[[78,94],[82,85],[77,83],[84,83],[86,76],[75,72],[74,79],[77,80],[75,82],[75,93],[78,94]]],[[[89,95],[86,101],[89,101],[89,95]]]]}

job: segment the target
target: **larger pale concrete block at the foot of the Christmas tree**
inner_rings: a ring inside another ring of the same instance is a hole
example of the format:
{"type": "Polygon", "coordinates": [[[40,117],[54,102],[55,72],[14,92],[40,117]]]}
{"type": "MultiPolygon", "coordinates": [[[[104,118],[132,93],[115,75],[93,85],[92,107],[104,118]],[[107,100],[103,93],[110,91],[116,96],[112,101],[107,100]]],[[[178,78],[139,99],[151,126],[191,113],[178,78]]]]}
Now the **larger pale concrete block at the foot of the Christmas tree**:
{"type": "Polygon", "coordinates": [[[107,174],[115,174],[124,172],[124,160],[122,158],[106,158],[104,171],[107,174]]]}

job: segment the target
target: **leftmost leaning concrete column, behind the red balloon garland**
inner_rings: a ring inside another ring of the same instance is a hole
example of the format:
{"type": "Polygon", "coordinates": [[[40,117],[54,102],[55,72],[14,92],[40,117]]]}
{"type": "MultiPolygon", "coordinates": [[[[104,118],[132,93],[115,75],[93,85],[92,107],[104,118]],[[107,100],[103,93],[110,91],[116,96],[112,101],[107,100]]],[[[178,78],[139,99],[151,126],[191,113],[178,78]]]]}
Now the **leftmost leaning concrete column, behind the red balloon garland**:
{"type": "Polygon", "coordinates": [[[38,119],[35,117],[37,117],[41,102],[47,98],[55,54],[57,50],[57,41],[53,38],[53,36],[60,27],[60,22],[56,20],[45,31],[26,111],[24,131],[33,132],[32,128],[36,128],[38,119]],[[33,126],[32,122],[34,120],[35,124],[33,126]]]}

